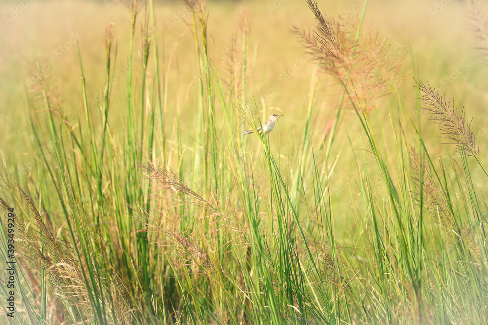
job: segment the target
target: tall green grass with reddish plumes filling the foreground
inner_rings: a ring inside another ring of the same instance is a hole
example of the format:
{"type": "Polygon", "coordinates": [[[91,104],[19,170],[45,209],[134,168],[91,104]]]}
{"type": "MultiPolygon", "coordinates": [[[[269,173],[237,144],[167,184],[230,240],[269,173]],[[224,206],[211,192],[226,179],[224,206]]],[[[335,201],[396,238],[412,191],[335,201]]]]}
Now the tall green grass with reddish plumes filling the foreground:
{"type": "Polygon", "coordinates": [[[218,66],[206,2],[186,1],[195,44],[195,61],[186,63],[197,78],[195,108],[183,112],[167,104],[171,61],[161,60],[153,1],[125,2],[122,99],[114,103],[120,58],[108,27],[97,105],[87,96],[82,48],[79,119],[39,70],[32,111],[42,112],[31,119],[39,168],[21,183],[3,164],[0,203],[5,215],[15,211],[19,263],[16,320],[4,323],[488,323],[487,210],[473,181],[488,178],[484,155],[464,108],[415,67],[416,107],[404,104],[405,56],[363,26],[367,1],[361,16],[328,19],[307,0],[315,28],[293,28],[316,64],[293,153],[280,150],[276,133],[256,132],[258,107],[267,108],[247,86],[247,19],[227,67],[218,66]],[[337,96],[324,127],[316,121],[319,75],[337,96]],[[374,120],[382,101],[387,124],[374,120]],[[122,122],[111,120],[114,111],[122,122]],[[429,151],[426,115],[452,155],[429,151]],[[182,121],[193,134],[183,134],[182,121]],[[346,124],[362,134],[353,139],[346,124]],[[248,125],[257,135],[244,139],[248,125]],[[343,155],[356,164],[348,179],[338,172],[343,155]],[[347,195],[350,207],[337,198],[347,195]]]}

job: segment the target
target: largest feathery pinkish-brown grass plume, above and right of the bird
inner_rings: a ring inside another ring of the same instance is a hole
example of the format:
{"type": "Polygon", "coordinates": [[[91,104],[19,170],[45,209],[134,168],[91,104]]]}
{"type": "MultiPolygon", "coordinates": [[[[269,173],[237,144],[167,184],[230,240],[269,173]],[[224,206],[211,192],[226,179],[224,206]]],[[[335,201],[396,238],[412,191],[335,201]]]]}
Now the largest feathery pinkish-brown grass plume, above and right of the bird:
{"type": "Polygon", "coordinates": [[[393,52],[387,39],[380,41],[378,29],[363,31],[357,15],[325,18],[315,0],[307,3],[315,16],[313,33],[297,26],[292,32],[313,61],[346,91],[352,108],[369,113],[378,97],[403,86],[408,73],[400,76],[399,69],[406,54],[393,52]]]}

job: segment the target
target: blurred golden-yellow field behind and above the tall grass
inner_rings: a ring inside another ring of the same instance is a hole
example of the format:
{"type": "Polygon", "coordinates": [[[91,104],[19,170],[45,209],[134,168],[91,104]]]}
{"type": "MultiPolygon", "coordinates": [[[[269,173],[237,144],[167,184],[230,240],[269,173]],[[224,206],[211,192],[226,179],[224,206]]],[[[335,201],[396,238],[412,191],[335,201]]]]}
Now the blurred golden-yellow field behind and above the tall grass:
{"type": "MultiPolygon", "coordinates": [[[[435,1],[370,1],[365,26],[374,24],[379,28],[380,35],[389,38],[393,50],[398,49],[399,54],[409,52],[411,46],[420,77],[440,87],[447,96],[455,96],[456,101],[465,103],[467,119],[476,117],[473,126],[475,130],[479,130],[488,123],[485,118],[488,84],[486,68],[480,66],[474,49],[476,42],[470,31],[467,2],[451,1],[438,15],[431,18],[429,10],[435,10],[435,1]],[[456,72],[458,65],[466,68],[463,68],[461,74],[454,74],[456,78],[447,84],[447,78],[456,72]]],[[[123,73],[124,67],[126,68],[126,63],[122,60],[126,58],[128,51],[129,22],[127,9],[122,5],[110,1],[103,3],[79,0],[33,0],[27,3],[28,6],[16,19],[8,21],[8,26],[3,21],[5,18],[2,19],[0,29],[0,116],[4,126],[1,148],[6,156],[29,154],[29,149],[19,144],[24,143],[25,134],[22,130],[29,116],[26,78],[32,77],[35,62],[47,64],[47,75],[62,90],[64,102],[69,105],[67,111],[70,114],[80,112],[78,53],[75,45],[66,44],[69,43],[72,33],[80,37],[89,98],[97,98],[97,94],[103,89],[103,38],[105,28],[111,23],[115,24],[114,35],[118,45],[116,64],[119,68],[116,73],[123,73]],[[60,47],[64,51],[61,52],[60,47]],[[55,62],[53,65],[49,64],[50,59],[54,59],[51,61],[55,62]]],[[[359,1],[318,3],[324,14],[329,16],[361,14],[362,10],[362,2],[359,1]]],[[[1,1],[1,16],[12,16],[12,10],[19,5],[16,1],[1,1]]],[[[275,136],[280,137],[282,143],[286,143],[289,134],[300,134],[300,121],[306,113],[313,65],[306,61],[304,50],[291,34],[290,28],[293,25],[311,27],[313,17],[305,1],[217,1],[210,2],[209,12],[209,55],[216,61],[222,58],[231,37],[237,32],[243,12],[246,13],[251,26],[249,93],[260,103],[260,98],[266,92],[271,92],[273,84],[278,83],[279,90],[274,91],[271,96],[265,96],[266,106],[274,107],[284,115],[280,120],[280,128],[274,131],[275,136]],[[293,75],[286,74],[297,61],[304,63],[299,64],[299,69],[291,70],[293,75]],[[284,74],[286,77],[280,78],[284,74]]],[[[197,77],[192,32],[183,21],[189,23],[190,16],[185,11],[183,2],[157,2],[156,33],[158,45],[164,44],[166,65],[171,53],[174,51],[175,54],[169,80],[171,96],[168,96],[168,108],[175,108],[177,100],[184,103],[188,96],[189,101],[182,105],[185,115],[191,115],[193,110],[192,99],[195,94],[188,94],[188,89],[197,77]],[[178,15],[183,19],[179,20],[178,15]]],[[[140,28],[138,29],[136,39],[140,39],[140,28]]],[[[136,41],[135,45],[135,53],[138,51],[140,52],[140,41],[136,41]]],[[[225,62],[221,65],[225,65],[225,62]]],[[[164,68],[167,66],[163,66],[164,68]]],[[[409,69],[410,53],[404,64],[404,70],[409,69]]],[[[136,78],[139,71],[140,65],[136,64],[136,78]]],[[[125,79],[121,78],[119,85],[123,85],[125,79]]],[[[411,84],[413,80],[409,79],[406,86],[411,88],[411,84]]],[[[117,98],[121,94],[117,87],[114,89],[113,98],[117,98]]],[[[407,97],[413,102],[413,91],[410,89],[407,94],[410,94],[407,97]]],[[[336,100],[333,95],[326,87],[321,88],[319,118],[326,120],[330,117],[327,116],[327,111],[336,100]]],[[[379,104],[379,114],[382,114],[381,108],[385,107],[385,103],[379,104]]],[[[170,117],[172,111],[168,109],[170,117]]],[[[410,113],[415,115],[415,112],[410,113]]],[[[267,114],[265,112],[263,116],[267,114]]],[[[183,118],[183,127],[184,120],[183,118]]],[[[429,133],[429,130],[425,132],[429,133]]]]}

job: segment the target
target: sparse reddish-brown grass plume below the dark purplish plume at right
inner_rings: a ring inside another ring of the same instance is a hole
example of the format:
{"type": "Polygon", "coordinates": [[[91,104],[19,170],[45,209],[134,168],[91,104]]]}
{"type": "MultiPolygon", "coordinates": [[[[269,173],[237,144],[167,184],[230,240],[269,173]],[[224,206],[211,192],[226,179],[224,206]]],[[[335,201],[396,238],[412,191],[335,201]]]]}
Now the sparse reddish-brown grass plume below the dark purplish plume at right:
{"type": "Polygon", "coordinates": [[[449,209],[445,193],[436,183],[435,179],[426,166],[426,161],[420,159],[414,147],[410,146],[410,161],[412,164],[412,180],[415,185],[414,200],[420,204],[420,186],[424,195],[424,205],[437,217],[441,225],[452,229],[454,227],[454,216],[449,209]],[[422,179],[421,179],[422,177],[422,179]]]}

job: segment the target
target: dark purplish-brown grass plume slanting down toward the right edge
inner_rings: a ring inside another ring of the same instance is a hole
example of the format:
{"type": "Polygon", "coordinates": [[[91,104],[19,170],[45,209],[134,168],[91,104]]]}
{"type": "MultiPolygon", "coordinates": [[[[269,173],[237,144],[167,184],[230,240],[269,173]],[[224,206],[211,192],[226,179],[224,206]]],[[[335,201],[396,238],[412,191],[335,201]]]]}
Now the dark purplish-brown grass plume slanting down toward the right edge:
{"type": "Polygon", "coordinates": [[[430,120],[440,126],[440,137],[448,140],[444,144],[454,144],[459,153],[477,156],[478,148],[475,144],[475,133],[471,122],[466,123],[464,105],[454,106],[453,99],[447,99],[439,89],[432,88],[427,82],[415,80],[420,90],[420,100],[425,103],[421,109],[430,115],[430,120]]]}

